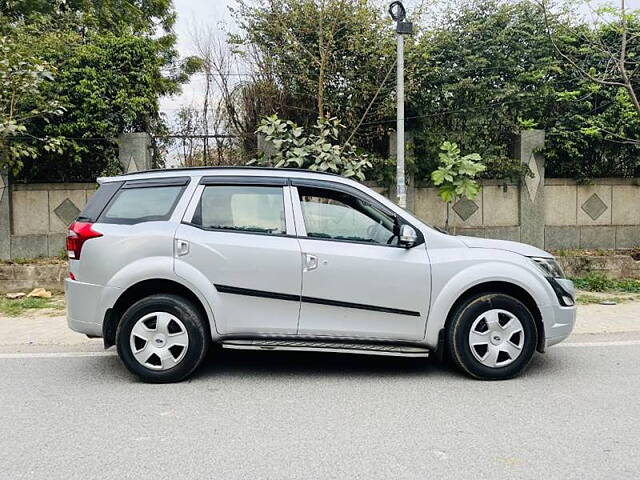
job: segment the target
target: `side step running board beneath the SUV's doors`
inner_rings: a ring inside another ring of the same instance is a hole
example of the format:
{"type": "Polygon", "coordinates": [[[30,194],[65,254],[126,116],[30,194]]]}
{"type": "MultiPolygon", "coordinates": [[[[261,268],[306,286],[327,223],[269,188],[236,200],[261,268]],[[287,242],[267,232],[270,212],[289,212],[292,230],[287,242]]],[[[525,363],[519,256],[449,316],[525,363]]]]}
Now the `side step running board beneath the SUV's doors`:
{"type": "Polygon", "coordinates": [[[392,357],[428,357],[429,349],[379,343],[341,343],[301,340],[225,340],[224,348],[236,350],[288,350],[302,352],[359,353],[392,357]]]}

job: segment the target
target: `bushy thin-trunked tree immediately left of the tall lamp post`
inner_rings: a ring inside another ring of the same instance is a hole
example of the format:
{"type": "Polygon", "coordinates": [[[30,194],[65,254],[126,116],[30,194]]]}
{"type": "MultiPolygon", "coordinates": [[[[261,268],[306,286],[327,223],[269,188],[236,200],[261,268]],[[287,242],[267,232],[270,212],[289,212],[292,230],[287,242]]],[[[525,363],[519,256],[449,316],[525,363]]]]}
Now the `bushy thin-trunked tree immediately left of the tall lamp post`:
{"type": "MultiPolygon", "coordinates": [[[[337,117],[350,135],[394,69],[393,29],[372,1],[238,0],[233,12],[240,33],[232,41],[261,77],[285,92],[276,111],[266,113],[298,125],[337,117]]],[[[384,125],[375,123],[391,113],[393,91],[386,82],[356,143],[371,148],[385,135],[384,125]]]]}

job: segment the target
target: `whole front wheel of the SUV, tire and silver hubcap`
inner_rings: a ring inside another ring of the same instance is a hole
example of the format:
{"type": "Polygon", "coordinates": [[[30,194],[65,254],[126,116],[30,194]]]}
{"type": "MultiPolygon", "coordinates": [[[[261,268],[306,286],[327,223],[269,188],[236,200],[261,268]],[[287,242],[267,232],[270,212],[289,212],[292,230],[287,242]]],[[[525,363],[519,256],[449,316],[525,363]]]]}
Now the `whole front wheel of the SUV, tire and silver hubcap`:
{"type": "Polygon", "coordinates": [[[454,364],[472,377],[504,380],[522,373],[537,345],[535,320],[518,299],[481,294],[453,313],[448,347],[454,364]]]}

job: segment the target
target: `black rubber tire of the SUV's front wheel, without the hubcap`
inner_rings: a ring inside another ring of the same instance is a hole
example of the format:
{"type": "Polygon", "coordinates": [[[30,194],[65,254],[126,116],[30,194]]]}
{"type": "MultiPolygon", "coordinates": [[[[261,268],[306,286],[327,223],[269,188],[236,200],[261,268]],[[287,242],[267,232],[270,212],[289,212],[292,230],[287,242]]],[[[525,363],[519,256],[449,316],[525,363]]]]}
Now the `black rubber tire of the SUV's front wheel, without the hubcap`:
{"type": "Polygon", "coordinates": [[[506,380],[521,374],[529,365],[537,343],[538,331],[532,313],[521,301],[502,293],[483,293],[464,301],[453,312],[447,330],[447,348],[453,364],[480,380],[506,380]],[[484,365],[476,358],[469,345],[469,334],[475,320],[493,309],[505,310],[517,317],[524,333],[520,354],[503,367],[484,365]]]}

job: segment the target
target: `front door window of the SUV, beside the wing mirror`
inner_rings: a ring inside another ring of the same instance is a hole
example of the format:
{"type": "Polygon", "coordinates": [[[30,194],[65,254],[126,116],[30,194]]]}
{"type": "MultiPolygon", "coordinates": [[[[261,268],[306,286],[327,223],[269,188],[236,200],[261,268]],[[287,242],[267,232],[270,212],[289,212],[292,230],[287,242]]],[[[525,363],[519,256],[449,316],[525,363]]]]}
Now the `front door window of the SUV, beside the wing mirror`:
{"type": "Polygon", "coordinates": [[[396,244],[394,218],[347,193],[298,187],[302,215],[311,238],[396,244]]]}

